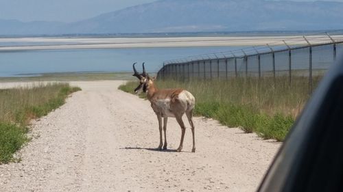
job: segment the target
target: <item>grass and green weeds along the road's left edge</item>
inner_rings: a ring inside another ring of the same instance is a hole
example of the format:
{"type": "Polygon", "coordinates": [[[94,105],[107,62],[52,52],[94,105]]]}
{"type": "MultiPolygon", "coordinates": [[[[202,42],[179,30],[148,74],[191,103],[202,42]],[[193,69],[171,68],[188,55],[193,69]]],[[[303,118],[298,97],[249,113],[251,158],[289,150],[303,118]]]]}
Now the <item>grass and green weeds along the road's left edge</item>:
{"type": "Polygon", "coordinates": [[[0,163],[16,160],[14,152],[29,141],[26,133],[30,120],[60,107],[69,94],[78,90],[68,83],[0,90],[0,163]]]}

